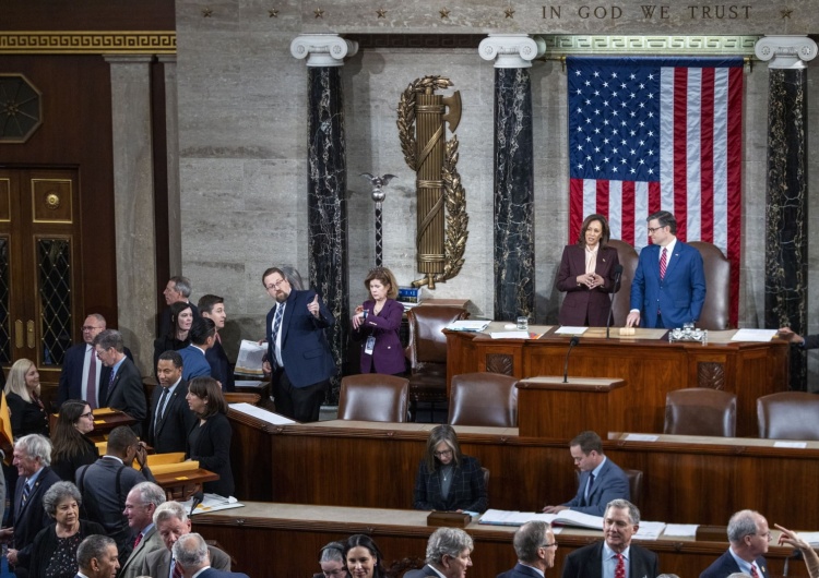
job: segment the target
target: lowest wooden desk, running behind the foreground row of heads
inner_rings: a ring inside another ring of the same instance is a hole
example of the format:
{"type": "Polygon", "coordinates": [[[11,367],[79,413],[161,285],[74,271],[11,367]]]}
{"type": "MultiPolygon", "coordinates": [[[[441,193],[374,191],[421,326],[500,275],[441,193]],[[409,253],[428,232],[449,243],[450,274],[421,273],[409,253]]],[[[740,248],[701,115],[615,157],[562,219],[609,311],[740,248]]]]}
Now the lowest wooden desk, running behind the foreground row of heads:
{"type": "MultiPolygon", "coordinates": [[[[385,566],[404,557],[424,558],[427,539],[435,528],[426,526],[426,511],[397,509],[299,506],[245,502],[244,508],[193,516],[193,531],[216,540],[238,561],[236,571],[249,576],[310,576],[318,571],[318,552],[330,541],[367,533],[381,550],[385,566]]],[[[495,578],[513,567],[517,558],[512,535],[517,528],[480,526],[465,529],[475,541],[470,578],[495,578]]],[[[723,534],[724,535],[724,534],[723,534]]],[[[602,532],[565,528],[557,534],[555,568],[559,576],[563,559],[573,550],[602,539],[602,532]]],[[[637,542],[636,542],[637,543],[637,542]]],[[[699,575],[727,550],[726,541],[697,541],[661,537],[639,542],[660,556],[660,569],[685,578],[699,575]]],[[[775,543],[775,541],[773,542],[775,543]]],[[[791,549],[772,547],[767,555],[772,575],[781,575],[791,549]]],[[[791,563],[791,576],[807,576],[805,564],[791,563]]]]}

